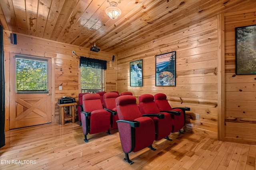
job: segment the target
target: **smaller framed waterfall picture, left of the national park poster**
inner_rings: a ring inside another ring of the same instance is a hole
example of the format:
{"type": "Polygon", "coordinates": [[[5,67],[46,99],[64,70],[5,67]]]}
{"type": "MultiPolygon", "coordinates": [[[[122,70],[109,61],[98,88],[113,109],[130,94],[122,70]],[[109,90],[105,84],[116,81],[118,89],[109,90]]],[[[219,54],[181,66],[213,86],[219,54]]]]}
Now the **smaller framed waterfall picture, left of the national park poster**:
{"type": "Polygon", "coordinates": [[[130,62],[130,86],[142,86],[142,59],[130,62]]]}

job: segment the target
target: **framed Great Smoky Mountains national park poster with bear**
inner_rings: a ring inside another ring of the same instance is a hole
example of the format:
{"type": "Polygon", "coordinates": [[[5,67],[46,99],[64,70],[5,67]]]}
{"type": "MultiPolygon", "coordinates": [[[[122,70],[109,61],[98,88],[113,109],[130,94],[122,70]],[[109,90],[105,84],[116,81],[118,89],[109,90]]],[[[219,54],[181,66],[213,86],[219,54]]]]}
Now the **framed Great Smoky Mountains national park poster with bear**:
{"type": "Polygon", "coordinates": [[[156,55],[156,86],[176,86],[176,51],[156,55]]]}

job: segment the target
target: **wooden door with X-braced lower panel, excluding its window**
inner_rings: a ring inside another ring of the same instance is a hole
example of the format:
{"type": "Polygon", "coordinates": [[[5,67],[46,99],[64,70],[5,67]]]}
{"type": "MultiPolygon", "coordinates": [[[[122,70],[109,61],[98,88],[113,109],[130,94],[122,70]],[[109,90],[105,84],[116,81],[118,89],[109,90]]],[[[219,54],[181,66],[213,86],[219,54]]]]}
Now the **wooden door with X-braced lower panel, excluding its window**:
{"type": "Polygon", "coordinates": [[[24,55],[10,55],[10,129],[51,123],[51,59],[24,55]],[[43,61],[47,65],[47,90],[17,90],[16,59],[43,61]],[[46,64],[47,63],[47,64],[46,64]]]}

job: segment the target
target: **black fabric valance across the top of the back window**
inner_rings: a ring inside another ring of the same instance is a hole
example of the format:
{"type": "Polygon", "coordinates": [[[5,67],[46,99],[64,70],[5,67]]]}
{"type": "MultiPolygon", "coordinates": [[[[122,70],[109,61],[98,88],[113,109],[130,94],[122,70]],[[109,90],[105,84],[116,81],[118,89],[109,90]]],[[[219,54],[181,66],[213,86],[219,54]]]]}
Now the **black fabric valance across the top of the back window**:
{"type": "Polygon", "coordinates": [[[100,68],[100,69],[106,70],[107,69],[107,61],[81,56],[80,57],[80,66],[89,66],[92,68],[100,68]]]}

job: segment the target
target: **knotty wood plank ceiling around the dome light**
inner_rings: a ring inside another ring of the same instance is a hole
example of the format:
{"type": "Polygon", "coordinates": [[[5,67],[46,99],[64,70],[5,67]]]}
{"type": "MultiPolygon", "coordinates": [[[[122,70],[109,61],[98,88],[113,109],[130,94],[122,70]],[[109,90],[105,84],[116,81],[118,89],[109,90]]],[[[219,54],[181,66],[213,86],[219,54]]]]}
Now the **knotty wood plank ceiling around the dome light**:
{"type": "MultiPolygon", "coordinates": [[[[116,1],[118,0],[110,0],[116,1]]],[[[107,0],[0,0],[5,30],[121,53],[221,12],[255,8],[255,0],[120,0],[110,19],[107,0]]]]}

